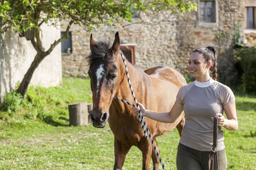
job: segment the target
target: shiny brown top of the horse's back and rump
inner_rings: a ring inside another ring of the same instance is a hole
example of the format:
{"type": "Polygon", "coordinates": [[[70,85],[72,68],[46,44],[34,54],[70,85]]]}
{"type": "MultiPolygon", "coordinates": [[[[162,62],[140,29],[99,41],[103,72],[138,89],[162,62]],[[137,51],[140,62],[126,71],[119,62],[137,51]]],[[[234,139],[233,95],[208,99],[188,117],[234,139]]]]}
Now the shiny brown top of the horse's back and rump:
{"type": "Polygon", "coordinates": [[[178,87],[184,86],[184,84],[186,84],[184,76],[180,72],[176,71],[175,69],[171,69],[170,67],[156,66],[145,70],[145,73],[156,79],[173,82],[173,84],[178,87]]]}

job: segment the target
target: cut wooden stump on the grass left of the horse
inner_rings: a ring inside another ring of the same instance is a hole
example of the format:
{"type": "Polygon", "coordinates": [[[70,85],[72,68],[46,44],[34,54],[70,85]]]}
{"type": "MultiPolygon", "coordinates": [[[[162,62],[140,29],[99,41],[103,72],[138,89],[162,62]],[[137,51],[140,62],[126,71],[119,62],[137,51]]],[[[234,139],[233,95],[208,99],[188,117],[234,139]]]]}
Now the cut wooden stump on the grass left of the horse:
{"type": "MultiPolygon", "coordinates": [[[[70,112],[70,125],[89,125],[89,112],[86,101],[69,104],[68,110],[70,112]]],[[[92,107],[91,107],[92,112],[92,107]]]]}

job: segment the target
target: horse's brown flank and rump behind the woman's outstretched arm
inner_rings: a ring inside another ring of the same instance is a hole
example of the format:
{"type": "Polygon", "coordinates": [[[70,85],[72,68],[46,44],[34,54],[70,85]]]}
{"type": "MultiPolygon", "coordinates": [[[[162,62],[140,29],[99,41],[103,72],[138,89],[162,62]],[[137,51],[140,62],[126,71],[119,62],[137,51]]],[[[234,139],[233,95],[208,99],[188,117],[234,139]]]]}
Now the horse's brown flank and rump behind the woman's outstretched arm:
{"type": "MultiPolygon", "coordinates": [[[[186,80],[181,73],[164,66],[156,66],[145,71],[151,79],[151,83],[155,90],[151,90],[151,97],[147,108],[158,112],[168,112],[175,103],[176,95],[181,86],[186,84],[186,80]],[[154,93],[154,92],[155,93],[154,93]]],[[[182,114],[174,123],[161,123],[151,121],[149,127],[153,132],[153,136],[160,136],[170,130],[173,130],[176,125],[183,119],[182,114]]]]}

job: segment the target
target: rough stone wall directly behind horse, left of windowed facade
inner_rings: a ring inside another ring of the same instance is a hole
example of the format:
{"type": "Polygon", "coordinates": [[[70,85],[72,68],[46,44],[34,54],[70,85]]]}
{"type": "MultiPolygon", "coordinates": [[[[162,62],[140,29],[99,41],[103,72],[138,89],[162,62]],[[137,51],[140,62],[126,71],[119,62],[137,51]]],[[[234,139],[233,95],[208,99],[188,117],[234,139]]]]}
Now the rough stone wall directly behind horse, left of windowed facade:
{"type": "MultiPolygon", "coordinates": [[[[175,67],[178,60],[176,51],[178,50],[175,37],[178,34],[176,29],[176,18],[169,12],[159,14],[156,21],[150,21],[147,16],[143,16],[147,24],[116,23],[111,27],[102,25],[95,27],[92,31],[95,40],[106,40],[112,45],[114,35],[119,32],[121,40],[129,43],[136,43],[136,64],[142,69],[153,66],[175,67]],[[168,17],[165,17],[168,16],[168,17]],[[160,21],[160,23],[158,23],[160,21]]],[[[134,23],[138,19],[133,19],[134,23]]],[[[65,27],[63,27],[65,31],[65,27]]],[[[72,51],[70,54],[63,54],[63,76],[65,77],[87,77],[88,66],[86,56],[89,55],[89,36],[83,27],[73,26],[72,31],[72,51]]]]}

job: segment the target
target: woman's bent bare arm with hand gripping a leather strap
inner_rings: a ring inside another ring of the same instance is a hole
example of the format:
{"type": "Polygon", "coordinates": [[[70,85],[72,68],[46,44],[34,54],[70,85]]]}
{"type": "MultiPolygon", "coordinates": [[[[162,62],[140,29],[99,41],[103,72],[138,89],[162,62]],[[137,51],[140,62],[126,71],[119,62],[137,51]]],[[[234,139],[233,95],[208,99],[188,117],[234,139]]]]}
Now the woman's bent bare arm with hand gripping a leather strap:
{"type": "Polygon", "coordinates": [[[237,130],[238,122],[235,101],[231,101],[229,104],[224,105],[224,110],[227,119],[225,119],[222,114],[219,114],[218,125],[225,127],[227,130],[237,130]]]}

